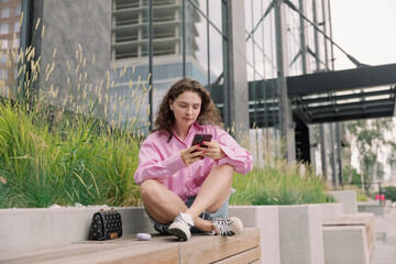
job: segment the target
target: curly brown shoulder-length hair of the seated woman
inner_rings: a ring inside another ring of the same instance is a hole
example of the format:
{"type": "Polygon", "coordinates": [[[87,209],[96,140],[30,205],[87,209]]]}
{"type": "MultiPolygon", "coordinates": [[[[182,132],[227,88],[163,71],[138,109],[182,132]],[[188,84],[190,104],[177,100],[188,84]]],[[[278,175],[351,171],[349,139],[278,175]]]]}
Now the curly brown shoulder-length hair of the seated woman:
{"type": "Polygon", "coordinates": [[[170,110],[169,101],[175,101],[175,99],[185,91],[197,92],[202,100],[201,109],[197,118],[197,123],[222,127],[220,110],[215,107],[209,91],[201,84],[199,84],[199,81],[190,78],[184,78],[176,81],[169,88],[169,90],[164,96],[155,116],[155,130],[153,132],[167,132],[169,135],[168,142],[173,138],[172,128],[175,124],[175,116],[170,110]]]}

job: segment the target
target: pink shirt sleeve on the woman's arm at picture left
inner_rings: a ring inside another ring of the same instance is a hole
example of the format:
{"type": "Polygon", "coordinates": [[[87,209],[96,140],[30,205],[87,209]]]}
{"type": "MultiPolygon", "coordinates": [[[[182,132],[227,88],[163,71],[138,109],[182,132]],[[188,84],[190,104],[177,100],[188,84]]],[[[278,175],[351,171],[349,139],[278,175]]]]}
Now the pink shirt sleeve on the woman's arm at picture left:
{"type": "Polygon", "coordinates": [[[180,154],[176,152],[172,156],[161,155],[161,145],[155,145],[151,139],[146,139],[139,153],[139,165],[134,174],[134,180],[141,185],[146,179],[157,179],[164,183],[164,179],[172,177],[176,172],[185,167],[180,154]]]}

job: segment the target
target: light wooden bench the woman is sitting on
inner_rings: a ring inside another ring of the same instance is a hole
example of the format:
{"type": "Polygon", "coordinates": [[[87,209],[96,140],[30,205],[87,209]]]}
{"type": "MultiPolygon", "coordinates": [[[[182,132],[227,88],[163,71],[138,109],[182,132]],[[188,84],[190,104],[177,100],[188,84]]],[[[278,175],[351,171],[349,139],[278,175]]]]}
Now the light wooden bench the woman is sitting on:
{"type": "Polygon", "coordinates": [[[85,241],[64,246],[0,253],[0,263],[260,263],[260,230],[248,228],[238,237],[193,234],[187,242],[173,235],[139,241],[124,235],[111,241],[85,241]]]}

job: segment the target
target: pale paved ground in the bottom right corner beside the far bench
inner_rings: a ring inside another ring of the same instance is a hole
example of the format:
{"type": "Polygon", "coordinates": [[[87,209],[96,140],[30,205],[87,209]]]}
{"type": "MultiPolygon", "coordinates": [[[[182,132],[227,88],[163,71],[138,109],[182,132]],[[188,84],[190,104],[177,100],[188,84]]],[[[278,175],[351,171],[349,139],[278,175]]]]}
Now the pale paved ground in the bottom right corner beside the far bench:
{"type": "Polygon", "coordinates": [[[375,217],[376,241],[371,264],[396,263],[396,208],[385,208],[384,217],[375,217]]]}

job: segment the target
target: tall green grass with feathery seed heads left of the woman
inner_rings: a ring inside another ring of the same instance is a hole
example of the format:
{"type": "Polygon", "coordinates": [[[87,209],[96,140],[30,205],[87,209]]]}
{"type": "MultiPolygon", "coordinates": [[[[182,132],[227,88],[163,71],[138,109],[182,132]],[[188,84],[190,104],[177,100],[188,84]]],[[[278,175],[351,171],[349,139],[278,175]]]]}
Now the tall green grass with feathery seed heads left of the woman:
{"type": "MultiPolygon", "coordinates": [[[[36,30],[38,24],[40,21],[36,30]]],[[[108,73],[107,86],[101,90],[106,84],[101,80],[91,90],[92,84],[86,81],[87,73],[84,77],[78,72],[88,67],[80,45],[76,54],[73,64],[76,69],[70,69],[67,62],[68,70],[64,74],[63,90],[70,96],[65,96],[63,103],[53,103],[59,102],[58,89],[54,90],[47,80],[57,69],[55,64],[40,66],[41,58],[35,57],[34,47],[12,48],[7,53],[7,66],[20,64],[21,67],[16,70],[19,79],[13,91],[6,92],[11,96],[0,97],[0,208],[141,202],[139,187],[133,182],[141,143],[136,135],[139,119],[114,120],[107,116],[107,108],[102,114],[97,108],[100,101],[112,101],[113,113],[117,107],[121,111],[127,103],[139,110],[148,89],[143,84],[143,91],[138,92],[139,77],[134,88],[130,80],[131,98],[111,99],[108,90],[113,84],[110,85],[108,73]],[[38,74],[45,80],[42,85],[51,87],[50,90],[38,87],[38,74]]],[[[120,75],[123,74],[124,70],[120,75]]],[[[0,91],[4,89],[8,88],[0,81],[0,91]]],[[[116,117],[121,117],[120,113],[116,117]]]]}

